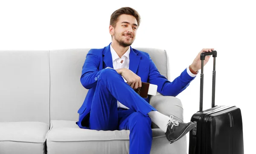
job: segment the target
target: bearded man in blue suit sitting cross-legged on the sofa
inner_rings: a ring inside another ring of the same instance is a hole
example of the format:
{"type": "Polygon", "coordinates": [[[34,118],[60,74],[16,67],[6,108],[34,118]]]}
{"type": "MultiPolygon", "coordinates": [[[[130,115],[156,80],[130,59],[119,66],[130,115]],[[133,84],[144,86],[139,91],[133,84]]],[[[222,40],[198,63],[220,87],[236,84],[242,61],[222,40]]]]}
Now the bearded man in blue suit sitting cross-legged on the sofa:
{"type": "MultiPolygon", "coordinates": [[[[151,121],[169,143],[179,140],[194,123],[182,123],[158,112],[134,89],[141,82],[156,84],[162,95],[176,96],[186,89],[201,69],[200,54],[179,77],[170,82],[157,70],[148,53],[131,48],[140,25],[140,15],[124,7],[111,15],[109,33],[112,42],[102,49],[91,49],[82,67],[81,84],[89,89],[79,109],[78,126],[94,130],[130,130],[130,154],[149,154],[152,143],[151,121]],[[127,81],[127,83],[124,81],[127,81]]],[[[209,56],[205,58],[205,64],[209,56]]]]}

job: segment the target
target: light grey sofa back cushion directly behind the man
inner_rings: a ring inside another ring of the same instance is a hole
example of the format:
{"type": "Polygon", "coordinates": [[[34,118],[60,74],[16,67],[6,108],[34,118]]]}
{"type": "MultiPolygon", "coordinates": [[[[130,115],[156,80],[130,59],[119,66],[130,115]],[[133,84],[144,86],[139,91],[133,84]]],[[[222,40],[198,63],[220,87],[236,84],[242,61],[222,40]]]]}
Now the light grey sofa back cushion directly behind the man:
{"type": "MultiPolygon", "coordinates": [[[[165,50],[136,48],[148,52],[159,72],[168,76],[168,57],[165,50]]],[[[78,109],[88,92],[80,82],[82,66],[90,48],[50,50],[50,118],[77,121],[78,109]]]]}

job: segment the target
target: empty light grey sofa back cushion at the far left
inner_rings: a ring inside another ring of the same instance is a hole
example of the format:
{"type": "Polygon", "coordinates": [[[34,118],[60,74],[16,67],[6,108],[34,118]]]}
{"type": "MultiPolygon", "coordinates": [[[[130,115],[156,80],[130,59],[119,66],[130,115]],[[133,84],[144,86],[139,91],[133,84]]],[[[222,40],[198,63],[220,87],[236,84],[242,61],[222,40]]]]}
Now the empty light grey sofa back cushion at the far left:
{"type": "Polygon", "coordinates": [[[49,51],[0,51],[0,122],[49,124],[49,51]]]}

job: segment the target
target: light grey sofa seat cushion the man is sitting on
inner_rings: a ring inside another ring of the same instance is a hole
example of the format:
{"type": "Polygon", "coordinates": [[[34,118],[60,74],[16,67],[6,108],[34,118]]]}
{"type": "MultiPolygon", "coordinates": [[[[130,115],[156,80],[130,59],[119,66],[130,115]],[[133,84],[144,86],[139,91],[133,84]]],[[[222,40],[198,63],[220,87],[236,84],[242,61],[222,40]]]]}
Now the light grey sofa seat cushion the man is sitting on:
{"type": "MultiPolygon", "coordinates": [[[[47,154],[127,154],[129,130],[96,131],[80,129],[76,121],[52,120],[47,133],[47,154]]],[[[164,132],[152,129],[151,154],[185,154],[186,140],[169,144],[164,132]],[[170,153],[172,149],[173,153],[170,153]]]]}

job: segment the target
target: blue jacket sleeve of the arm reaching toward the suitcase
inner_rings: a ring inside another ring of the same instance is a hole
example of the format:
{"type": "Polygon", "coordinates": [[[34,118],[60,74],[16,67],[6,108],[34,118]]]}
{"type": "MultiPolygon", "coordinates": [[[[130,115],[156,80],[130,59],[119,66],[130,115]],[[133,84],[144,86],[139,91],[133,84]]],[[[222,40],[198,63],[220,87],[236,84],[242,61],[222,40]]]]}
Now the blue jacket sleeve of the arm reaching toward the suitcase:
{"type": "Polygon", "coordinates": [[[186,87],[189,86],[189,83],[194,80],[195,77],[189,76],[186,69],[175,78],[172,82],[169,81],[165,76],[162,76],[160,72],[158,71],[156,65],[150,58],[149,58],[149,83],[150,84],[156,84],[157,85],[157,92],[159,92],[162,95],[166,96],[177,96],[180,92],[186,89],[186,87]]]}

